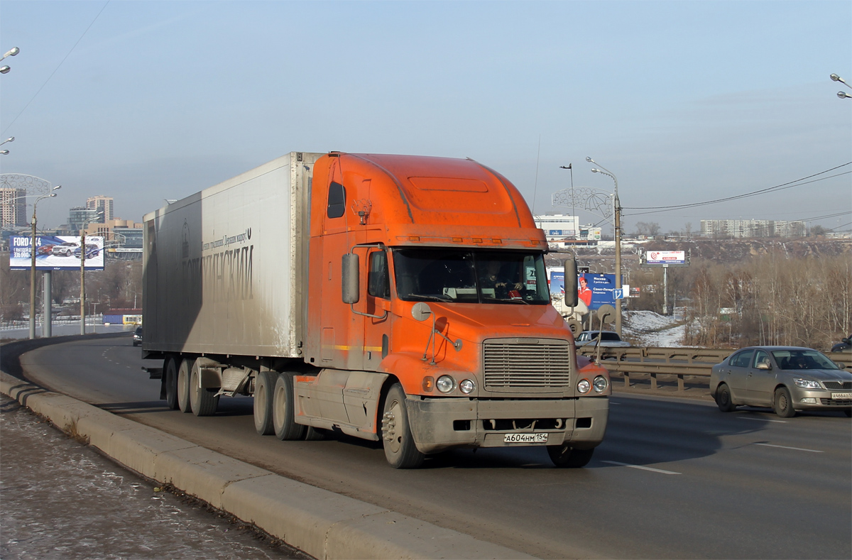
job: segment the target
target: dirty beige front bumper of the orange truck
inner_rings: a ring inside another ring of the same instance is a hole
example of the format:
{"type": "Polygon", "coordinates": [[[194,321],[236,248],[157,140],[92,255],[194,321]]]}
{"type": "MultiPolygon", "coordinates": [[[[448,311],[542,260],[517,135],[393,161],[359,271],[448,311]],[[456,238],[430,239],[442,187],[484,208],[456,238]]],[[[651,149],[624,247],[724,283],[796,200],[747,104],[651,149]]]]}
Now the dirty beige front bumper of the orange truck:
{"type": "Polygon", "coordinates": [[[556,400],[408,397],[406,405],[414,442],[417,449],[426,454],[460,447],[561,443],[591,449],[602,442],[609,417],[607,397],[556,400]],[[546,433],[547,441],[506,443],[504,435],[507,433],[546,433]]]}

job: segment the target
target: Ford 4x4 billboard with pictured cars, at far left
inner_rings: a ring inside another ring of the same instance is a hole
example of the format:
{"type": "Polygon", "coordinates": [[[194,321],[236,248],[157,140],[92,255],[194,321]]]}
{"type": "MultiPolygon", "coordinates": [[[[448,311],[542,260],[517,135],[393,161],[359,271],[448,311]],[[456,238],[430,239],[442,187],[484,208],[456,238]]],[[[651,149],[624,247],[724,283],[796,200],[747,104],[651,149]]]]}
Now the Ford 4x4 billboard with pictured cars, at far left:
{"type": "MultiPolygon", "coordinates": [[[[86,236],[86,247],[80,248],[78,236],[36,236],[36,270],[80,270],[80,259],[87,270],[104,269],[104,238],[86,236]]],[[[9,270],[28,271],[32,266],[32,237],[13,236],[9,240],[9,270]]]]}

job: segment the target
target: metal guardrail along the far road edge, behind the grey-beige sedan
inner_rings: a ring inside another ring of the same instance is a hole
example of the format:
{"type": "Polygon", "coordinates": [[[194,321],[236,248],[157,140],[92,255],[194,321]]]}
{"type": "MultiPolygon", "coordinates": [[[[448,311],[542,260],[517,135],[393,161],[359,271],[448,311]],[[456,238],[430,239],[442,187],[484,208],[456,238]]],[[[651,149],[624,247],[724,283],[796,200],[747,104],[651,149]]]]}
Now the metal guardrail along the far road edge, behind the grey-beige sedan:
{"type": "MultiPolygon", "coordinates": [[[[630,374],[649,374],[651,389],[657,388],[657,375],[676,375],[677,390],[684,390],[683,379],[690,375],[703,377],[709,385],[711,369],[717,363],[734,353],[725,348],[601,348],[601,365],[610,374],[624,375],[625,387],[630,386],[630,374]]],[[[582,356],[596,357],[594,346],[580,346],[577,353],[582,356]]],[[[852,354],[849,352],[826,352],[833,362],[843,363],[847,371],[852,371],[852,354]]]]}

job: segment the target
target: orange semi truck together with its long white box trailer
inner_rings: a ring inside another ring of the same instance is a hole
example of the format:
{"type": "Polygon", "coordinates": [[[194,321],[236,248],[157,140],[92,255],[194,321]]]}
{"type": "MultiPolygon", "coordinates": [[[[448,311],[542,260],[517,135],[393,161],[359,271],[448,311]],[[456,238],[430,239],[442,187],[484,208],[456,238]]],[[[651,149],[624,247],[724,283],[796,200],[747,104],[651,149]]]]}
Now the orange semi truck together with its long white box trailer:
{"type": "Polygon", "coordinates": [[[142,354],[173,409],[253,395],[259,434],[381,441],[396,468],[528,445],[578,467],[602,441],[607,371],[576,356],[544,232],[481,163],[291,152],[144,235],[142,354]]]}

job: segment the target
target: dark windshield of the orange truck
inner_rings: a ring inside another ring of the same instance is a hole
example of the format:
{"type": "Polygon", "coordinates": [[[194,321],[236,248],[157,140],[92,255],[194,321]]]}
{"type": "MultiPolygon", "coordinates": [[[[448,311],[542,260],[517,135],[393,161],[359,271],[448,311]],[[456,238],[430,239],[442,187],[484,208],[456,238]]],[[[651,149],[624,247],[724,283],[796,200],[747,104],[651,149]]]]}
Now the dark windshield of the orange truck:
{"type": "Polygon", "coordinates": [[[394,277],[405,301],[550,303],[541,253],[394,249],[394,277]]]}

